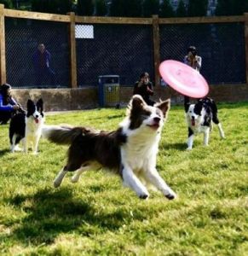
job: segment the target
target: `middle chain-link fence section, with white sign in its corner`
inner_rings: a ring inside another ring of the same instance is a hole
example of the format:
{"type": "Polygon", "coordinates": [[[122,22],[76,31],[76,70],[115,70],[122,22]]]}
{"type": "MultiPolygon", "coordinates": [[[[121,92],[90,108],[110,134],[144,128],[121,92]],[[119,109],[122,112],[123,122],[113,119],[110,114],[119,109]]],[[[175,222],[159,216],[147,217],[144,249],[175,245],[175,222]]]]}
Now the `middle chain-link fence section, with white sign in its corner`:
{"type": "Polygon", "coordinates": [[[145,71],[154,76],[152,26],[97,24],[88,34],[84,26],[76,41],[79,86],[96,85],[100,75],[119,75],[122,85],[145,71]]]}

